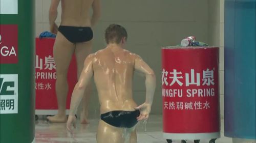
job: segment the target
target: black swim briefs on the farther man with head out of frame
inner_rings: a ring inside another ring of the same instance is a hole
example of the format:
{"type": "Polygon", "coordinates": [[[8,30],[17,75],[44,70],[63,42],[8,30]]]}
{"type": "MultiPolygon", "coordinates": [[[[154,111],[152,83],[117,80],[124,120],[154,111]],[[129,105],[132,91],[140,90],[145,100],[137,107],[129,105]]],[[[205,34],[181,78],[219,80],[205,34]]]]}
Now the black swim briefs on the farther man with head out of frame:
{"type": "Polygon", "coordinates": [[[93,39],[91,27],[60,25],[58,31],[72,43],[87,42],[93,39]]]}

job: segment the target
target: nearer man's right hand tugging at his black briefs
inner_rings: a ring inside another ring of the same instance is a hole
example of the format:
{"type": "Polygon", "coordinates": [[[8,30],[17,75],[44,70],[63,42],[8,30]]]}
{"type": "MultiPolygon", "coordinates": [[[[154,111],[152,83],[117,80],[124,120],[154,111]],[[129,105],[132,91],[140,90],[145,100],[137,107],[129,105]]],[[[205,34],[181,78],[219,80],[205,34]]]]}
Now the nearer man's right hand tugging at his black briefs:
{"type": "Polygon", "coordinates": [[[135,107],[135,109],[140,110],[140,116],[137,117],[137,120],[147,120],[148,116],[150,115],[151,111],[151,104],[143,103],[139,105],[138,107],[135,107]]]}

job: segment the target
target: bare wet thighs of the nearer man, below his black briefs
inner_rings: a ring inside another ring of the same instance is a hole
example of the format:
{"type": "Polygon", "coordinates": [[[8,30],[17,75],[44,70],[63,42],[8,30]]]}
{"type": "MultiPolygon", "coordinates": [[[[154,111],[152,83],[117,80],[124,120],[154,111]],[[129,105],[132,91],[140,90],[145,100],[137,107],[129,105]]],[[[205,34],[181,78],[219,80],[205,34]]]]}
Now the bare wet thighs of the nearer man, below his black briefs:
{"type": "Polygon", "coordinates": [[[113,127],[100,120],[97,143],[136,143],[136,130],[113,127]]]}

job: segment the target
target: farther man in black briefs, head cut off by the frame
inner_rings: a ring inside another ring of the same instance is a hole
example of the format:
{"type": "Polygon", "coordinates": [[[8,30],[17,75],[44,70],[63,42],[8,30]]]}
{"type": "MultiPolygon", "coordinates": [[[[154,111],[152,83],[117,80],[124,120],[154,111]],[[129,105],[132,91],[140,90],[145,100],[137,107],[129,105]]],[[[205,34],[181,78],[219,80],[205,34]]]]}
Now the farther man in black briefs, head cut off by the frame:
{"type": "MultiPolygon", "coordinates": [[[[61,0],[61,23],[57,27],[57,7],[60,0],[52,0],[49,10],[50,31],[57,34],[53,47],[56,64],[56,94],[58,113],[48,117],[50,122],[66,122],[66,99],[68,94],[67,73],[73,53],[76,56],[77,78],[83,69],[83,62],[92,50],[94,26],[100,17],[100,0],[61,0]],[[93,15],[90,16],[90,8],[93,15]]],[[[88,101],[91,91],[90,83],[84,92],[81,110],[81,123],[88,123],[88,101]]]]}

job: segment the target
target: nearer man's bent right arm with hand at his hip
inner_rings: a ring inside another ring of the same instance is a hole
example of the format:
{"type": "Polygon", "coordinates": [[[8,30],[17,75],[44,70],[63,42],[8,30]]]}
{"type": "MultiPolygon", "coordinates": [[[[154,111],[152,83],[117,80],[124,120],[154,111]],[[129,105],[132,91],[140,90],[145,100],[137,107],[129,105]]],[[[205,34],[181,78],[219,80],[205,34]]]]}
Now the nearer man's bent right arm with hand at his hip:
{"type": "Polygon", "coordinates": [[[138,120],[147,119],[150,111],[151,105],[153,103],[153,98],[156,89],[156,75],[154,71],[148,66],[138,55],[135,55],[135,70],[143,73],[146,77],[146,100],[143,104],[136,107],[136,109],[140,109],[140,116],[137,118],[138,120]]]}

